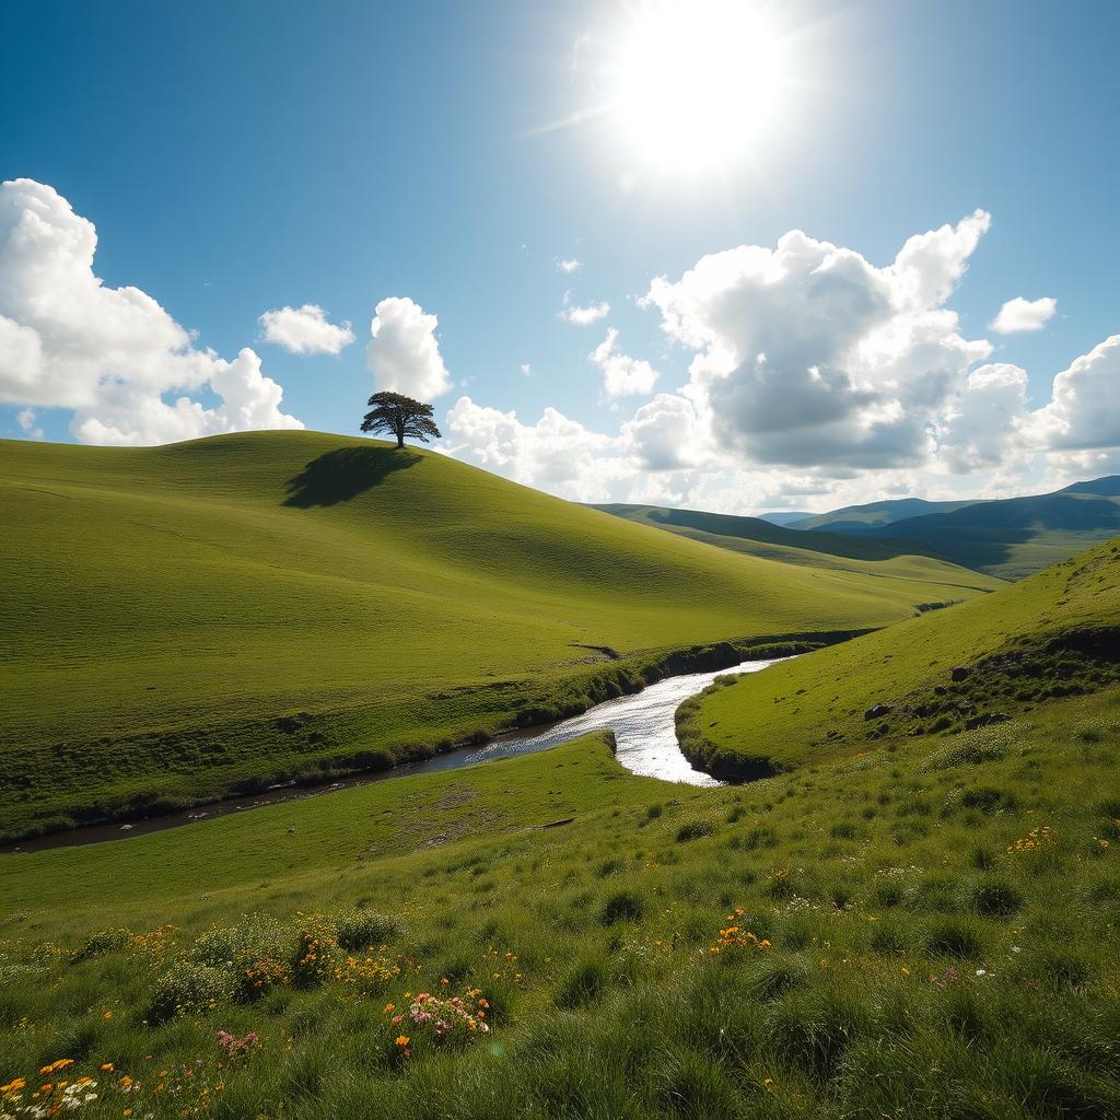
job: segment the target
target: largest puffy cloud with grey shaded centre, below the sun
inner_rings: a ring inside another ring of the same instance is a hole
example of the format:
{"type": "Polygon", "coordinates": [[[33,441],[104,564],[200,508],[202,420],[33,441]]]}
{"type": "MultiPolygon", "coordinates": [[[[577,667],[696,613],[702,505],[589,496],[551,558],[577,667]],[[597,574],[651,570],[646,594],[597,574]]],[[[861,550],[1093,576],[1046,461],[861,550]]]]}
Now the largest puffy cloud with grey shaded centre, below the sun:
{"type": "Polygon", "coordinates": [[[917,464],[937,411],[991,353],[943,306],[989,221],[911,237],[885,268],[795,230],[659,278],[643,304],[697,352],[691,391],[724,447],[840,473],[917,464]]]}

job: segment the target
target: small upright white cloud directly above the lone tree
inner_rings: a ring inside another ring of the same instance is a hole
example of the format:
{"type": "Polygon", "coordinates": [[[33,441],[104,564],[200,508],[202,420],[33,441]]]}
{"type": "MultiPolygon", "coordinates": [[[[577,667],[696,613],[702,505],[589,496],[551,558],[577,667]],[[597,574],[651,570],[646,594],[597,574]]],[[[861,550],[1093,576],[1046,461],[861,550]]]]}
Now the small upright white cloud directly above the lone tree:
{"type": "Polygon", "coordinates": [[[428,401],[451,388],[439,353],[438,325],[435,315],[408,297],[390,296],[377,305],[365,361],[379,391],[428,401]]]}

